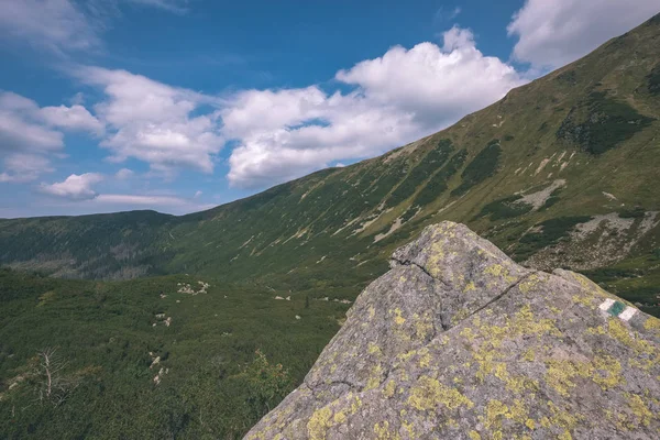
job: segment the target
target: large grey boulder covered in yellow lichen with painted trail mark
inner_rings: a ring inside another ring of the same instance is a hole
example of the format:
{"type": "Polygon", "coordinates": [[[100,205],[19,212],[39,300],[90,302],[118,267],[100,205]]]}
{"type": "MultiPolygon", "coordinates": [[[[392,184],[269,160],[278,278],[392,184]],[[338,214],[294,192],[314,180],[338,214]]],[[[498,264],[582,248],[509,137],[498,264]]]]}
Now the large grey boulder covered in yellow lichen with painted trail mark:
{"type": "Polygon", "coordinates": [[[428,227],[248,439],[657,439],[660,321],[428,227]]]}

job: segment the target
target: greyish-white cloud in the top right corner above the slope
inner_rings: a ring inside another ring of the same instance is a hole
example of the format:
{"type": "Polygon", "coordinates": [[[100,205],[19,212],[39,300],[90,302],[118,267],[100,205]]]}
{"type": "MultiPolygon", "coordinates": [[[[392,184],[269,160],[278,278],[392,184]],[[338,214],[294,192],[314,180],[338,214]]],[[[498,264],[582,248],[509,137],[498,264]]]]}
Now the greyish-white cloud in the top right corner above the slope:
{"type": "Polygon", "coordinates": [[[660,0],[527,0],[507,30],[513,56],[538,69],[571,63],[660,12],[660,0]]]}

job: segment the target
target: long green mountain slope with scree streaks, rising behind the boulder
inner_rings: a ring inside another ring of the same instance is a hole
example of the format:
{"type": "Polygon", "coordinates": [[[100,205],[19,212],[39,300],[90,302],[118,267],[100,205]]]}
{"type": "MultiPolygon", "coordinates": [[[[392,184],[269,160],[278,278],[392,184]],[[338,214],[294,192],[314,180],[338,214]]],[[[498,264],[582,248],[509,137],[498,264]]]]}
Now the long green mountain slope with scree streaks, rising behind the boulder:
{"type": "Polygon", "coordinates": [[[187,272],[355,295],[394,248],[448,219],[531,266],[614,267],[620,276],[608,288],[651,311],[658,59],[660,15],[442,132],[244,200],[184,217],[2,221],[0,263],[72,277],[187,272]],[[616,268],[627,261],[638,264],[630,276],[616,268]]]}

